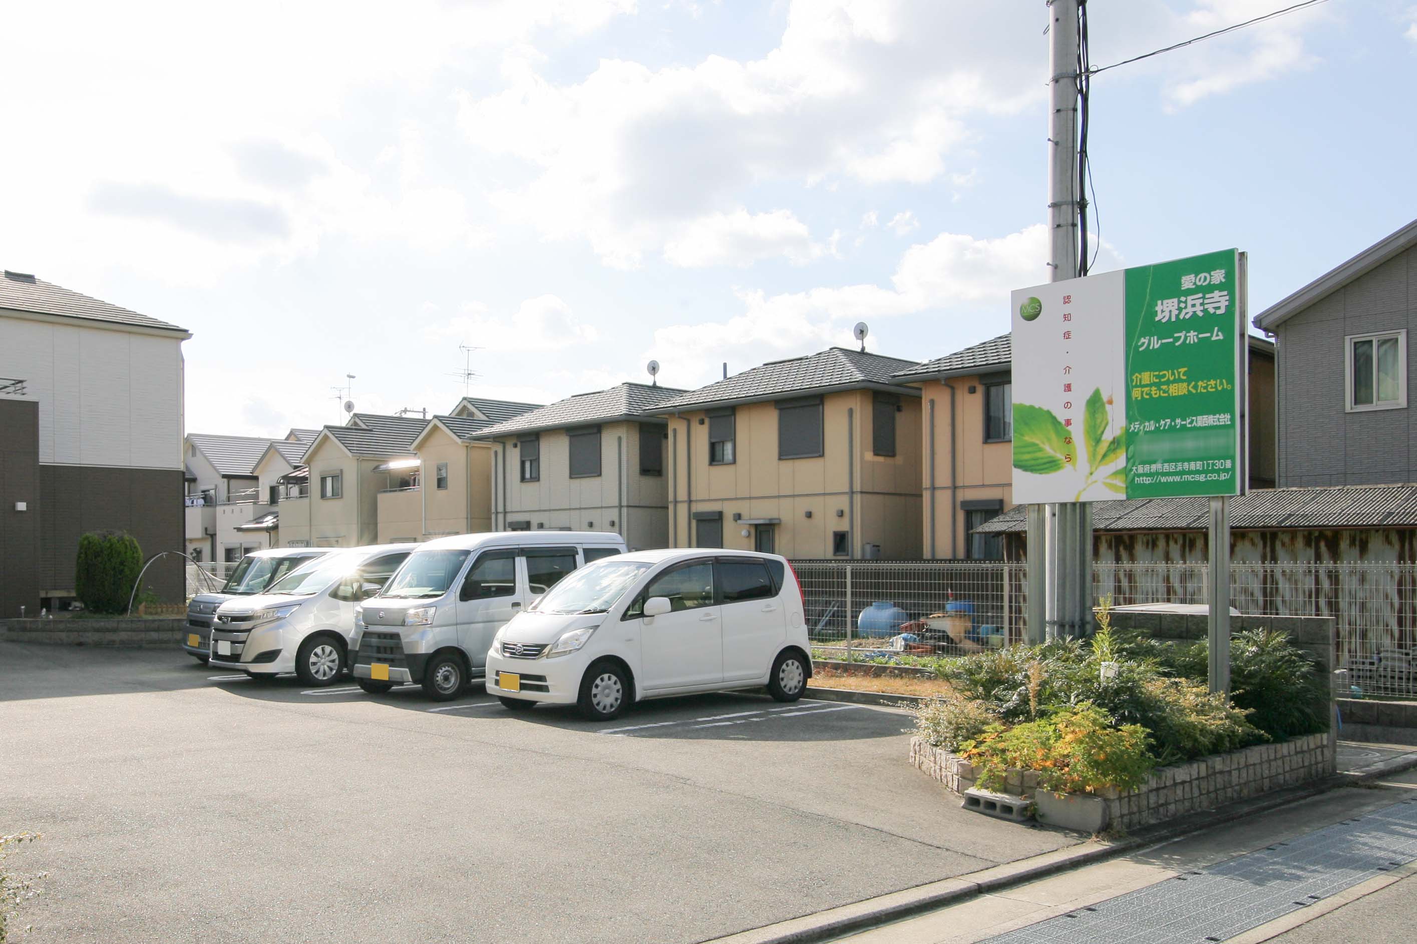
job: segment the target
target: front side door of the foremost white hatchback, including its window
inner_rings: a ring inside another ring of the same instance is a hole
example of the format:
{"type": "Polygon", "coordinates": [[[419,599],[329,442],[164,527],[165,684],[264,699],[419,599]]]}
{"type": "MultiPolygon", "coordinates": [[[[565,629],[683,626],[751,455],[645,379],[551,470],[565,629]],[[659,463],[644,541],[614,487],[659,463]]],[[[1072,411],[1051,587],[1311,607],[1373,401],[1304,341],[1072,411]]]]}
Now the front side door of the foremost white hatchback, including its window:
{"type": "Polygon", "coordinates": [[[714,604],[710,560],[670,567],[649,583],[625,614],[640,625],[640,683],[646,692],[723,682],[721,609],[714,604]],[[650,597],[667,597],[670,611],[643,617],[650,597]]]}

